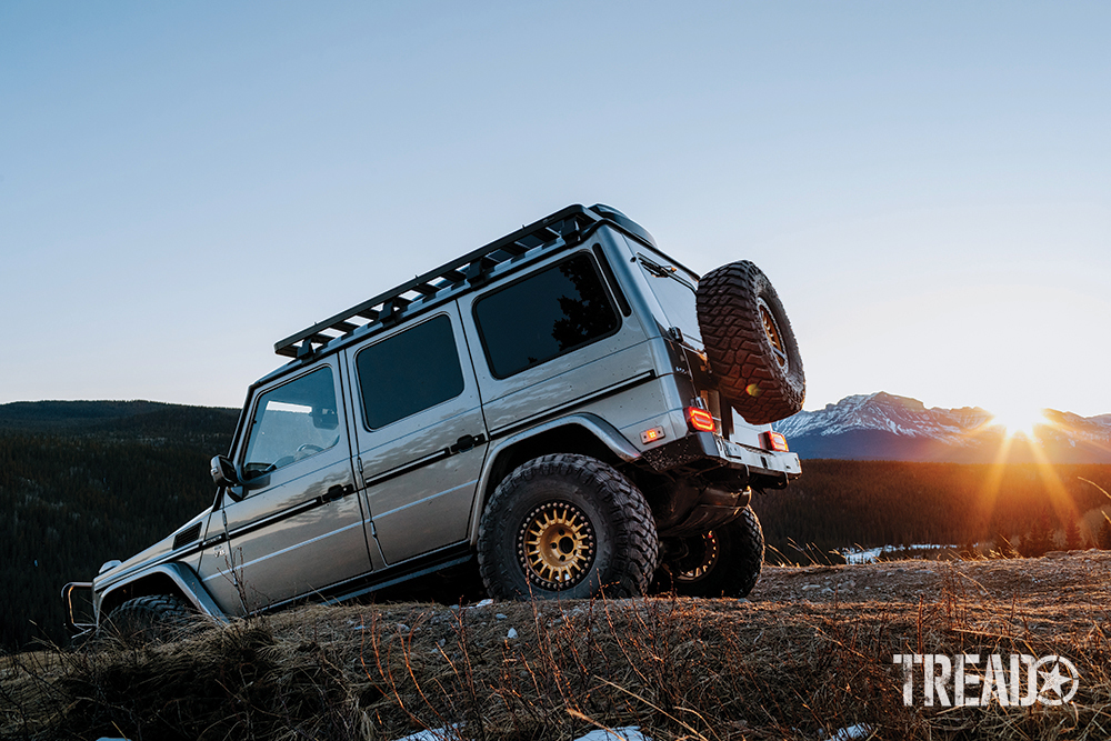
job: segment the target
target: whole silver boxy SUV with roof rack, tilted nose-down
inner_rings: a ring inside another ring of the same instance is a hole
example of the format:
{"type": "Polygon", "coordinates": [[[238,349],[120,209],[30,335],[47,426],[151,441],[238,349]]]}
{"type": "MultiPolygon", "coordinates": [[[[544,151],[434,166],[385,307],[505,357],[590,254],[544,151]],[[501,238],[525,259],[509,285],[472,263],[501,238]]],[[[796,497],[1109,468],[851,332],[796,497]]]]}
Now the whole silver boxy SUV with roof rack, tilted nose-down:
{"type": "Polygon", "coordinates": [[[72,628],[348,600],[463,564],[503,599],[653,580],[744,595],[763,562],[752,492],[801,472],[769,427],[804,380],[768,279],[743,261],[700,278],[604,206],[274,349],[289,362],[250,387],[212,507],[67,584],[72,628]]]}

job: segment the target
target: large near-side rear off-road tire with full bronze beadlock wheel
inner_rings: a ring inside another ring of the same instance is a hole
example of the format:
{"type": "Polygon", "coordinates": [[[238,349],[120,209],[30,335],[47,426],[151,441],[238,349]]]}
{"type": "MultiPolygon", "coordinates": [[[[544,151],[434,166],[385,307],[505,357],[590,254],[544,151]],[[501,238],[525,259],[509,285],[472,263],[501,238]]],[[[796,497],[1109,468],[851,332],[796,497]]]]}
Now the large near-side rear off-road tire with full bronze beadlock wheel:
{"type": "Polygon", "coordinates": [[[498,484],[479,524],[479,571],[499,599],[639,597],[658,557],[644,495],[587,455],[528,461],[498,484]]]}

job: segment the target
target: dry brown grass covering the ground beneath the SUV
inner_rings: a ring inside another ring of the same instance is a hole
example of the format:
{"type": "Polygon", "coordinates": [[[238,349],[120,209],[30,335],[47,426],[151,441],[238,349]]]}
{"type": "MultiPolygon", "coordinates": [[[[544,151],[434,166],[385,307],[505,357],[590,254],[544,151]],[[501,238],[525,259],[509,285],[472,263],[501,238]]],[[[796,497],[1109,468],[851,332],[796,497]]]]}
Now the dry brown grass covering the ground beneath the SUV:
{"type": "Polygon", "coordinates": [[[863,723],[883,739],[1105,739],[1109,565],[768,569],[741,602],[304,608],[4,657],[0,737],[523,741],[639,725],[655,741],[815,740],[863,723]],[[1059,708],[908,708],[892,663],[907,652],[1062,654],[1080,689],[1059,708]]]}

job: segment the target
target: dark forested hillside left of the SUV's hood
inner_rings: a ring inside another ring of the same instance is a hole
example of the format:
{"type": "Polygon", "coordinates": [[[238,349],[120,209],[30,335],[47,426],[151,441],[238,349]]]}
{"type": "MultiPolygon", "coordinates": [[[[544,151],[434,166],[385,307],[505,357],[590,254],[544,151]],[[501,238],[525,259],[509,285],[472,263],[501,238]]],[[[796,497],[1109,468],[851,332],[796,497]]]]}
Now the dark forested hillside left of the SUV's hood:
{"type": "Polygon", "coordinates": [[[63,641],[59,593],[199,512],[238,412],[152,402],[0,405],[0,647],[63,641]]]}

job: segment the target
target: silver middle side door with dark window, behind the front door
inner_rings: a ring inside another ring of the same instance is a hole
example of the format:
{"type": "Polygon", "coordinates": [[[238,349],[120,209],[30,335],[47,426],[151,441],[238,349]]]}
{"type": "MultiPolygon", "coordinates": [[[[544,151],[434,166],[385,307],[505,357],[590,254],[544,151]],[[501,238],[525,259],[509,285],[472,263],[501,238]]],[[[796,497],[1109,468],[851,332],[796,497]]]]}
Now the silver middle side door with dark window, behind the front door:
{"type": "Polygon", "coordinates": [[[347,351],[364,505],[386,563],[467,539],[486,455],[454,303],[347,351]]]}

